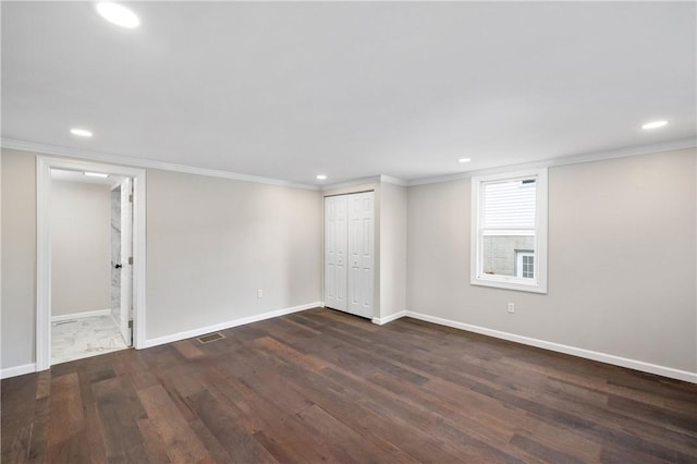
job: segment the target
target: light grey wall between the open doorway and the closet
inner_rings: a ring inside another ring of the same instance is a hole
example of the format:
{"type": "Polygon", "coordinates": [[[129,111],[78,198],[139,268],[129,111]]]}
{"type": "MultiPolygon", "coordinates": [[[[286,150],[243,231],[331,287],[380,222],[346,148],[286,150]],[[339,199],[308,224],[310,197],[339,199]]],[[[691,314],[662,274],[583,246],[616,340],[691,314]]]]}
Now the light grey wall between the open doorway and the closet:
{"type": "Polygon", "coordinates": [[[319,192],[147,175],[146,339],[321,301],[319,192]]]}

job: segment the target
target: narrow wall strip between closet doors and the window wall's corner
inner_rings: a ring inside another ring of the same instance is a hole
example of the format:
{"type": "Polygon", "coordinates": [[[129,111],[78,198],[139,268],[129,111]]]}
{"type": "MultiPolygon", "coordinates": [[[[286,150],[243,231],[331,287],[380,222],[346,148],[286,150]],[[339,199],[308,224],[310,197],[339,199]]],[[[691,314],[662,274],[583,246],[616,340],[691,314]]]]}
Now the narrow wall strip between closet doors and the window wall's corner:
{"type": "Polygon", "coordinates": [[[406,309],[406,191],[381,185],[380,318],[406,309]]]}

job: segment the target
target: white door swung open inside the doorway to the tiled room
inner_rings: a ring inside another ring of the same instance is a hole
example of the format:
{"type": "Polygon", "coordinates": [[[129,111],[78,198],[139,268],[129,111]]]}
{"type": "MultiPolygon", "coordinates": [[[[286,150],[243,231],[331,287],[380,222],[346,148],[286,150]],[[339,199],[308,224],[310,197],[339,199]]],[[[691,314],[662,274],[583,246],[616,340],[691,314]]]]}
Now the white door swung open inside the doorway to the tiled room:
{"type": "Polygon", "coordinates": [[[117,321],[126,345],[131,346],[130,321],[133,319],[133,180],[121,183],[121,310],[117,321]]]}

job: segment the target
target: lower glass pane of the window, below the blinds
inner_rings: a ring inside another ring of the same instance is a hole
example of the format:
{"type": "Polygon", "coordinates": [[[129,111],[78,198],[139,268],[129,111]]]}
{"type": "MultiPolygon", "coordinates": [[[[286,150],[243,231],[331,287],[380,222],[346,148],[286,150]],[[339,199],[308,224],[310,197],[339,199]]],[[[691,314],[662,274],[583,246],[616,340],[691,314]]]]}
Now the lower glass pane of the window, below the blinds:
{"type": "MultiPolygon", "coordinates": [[[[523,274],[524,261],[517,262],[518,251],[535,253],[534,235],[485,235],[482,248],[482,271],[487,274],[526,277],[523,274]],[[516,272],[517,271],[517,272],[516,272]]],[[[534,266],[530,256],[529,278],[533,278],[534,266]]]]}

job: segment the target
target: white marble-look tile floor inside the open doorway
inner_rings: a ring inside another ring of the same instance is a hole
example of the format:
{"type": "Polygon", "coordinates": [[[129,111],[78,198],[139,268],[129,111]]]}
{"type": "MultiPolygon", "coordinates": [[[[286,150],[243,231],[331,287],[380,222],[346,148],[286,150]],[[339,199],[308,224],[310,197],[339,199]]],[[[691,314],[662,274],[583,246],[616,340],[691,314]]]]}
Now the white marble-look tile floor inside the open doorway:
{"type": "Polygon", "coordinates": [[[111,316],[94,316],[51,323],[51,365],[125,350],[111,316]]]}

